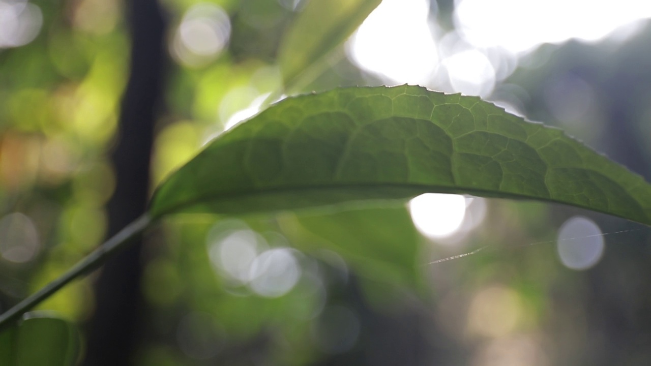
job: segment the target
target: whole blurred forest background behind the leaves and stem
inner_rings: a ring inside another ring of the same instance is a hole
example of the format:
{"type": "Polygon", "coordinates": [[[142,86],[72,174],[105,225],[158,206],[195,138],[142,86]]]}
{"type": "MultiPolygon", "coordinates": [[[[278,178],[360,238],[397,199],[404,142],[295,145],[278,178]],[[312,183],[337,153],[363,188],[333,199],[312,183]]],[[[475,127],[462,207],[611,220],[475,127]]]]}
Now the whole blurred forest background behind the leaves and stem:
{"type": "MultiPolygon", "coordinates": [[[[0,310],[281,89],[306,1],[0,0],[0,310]]],[[[634,0],[383,0],[301,92],[479,95],[651,180],[650,17],[634,0]]],[[[38,308],[78,324],[83,365],[649,365],[650,234],[437,194],[176,216],[38,308]]]]}

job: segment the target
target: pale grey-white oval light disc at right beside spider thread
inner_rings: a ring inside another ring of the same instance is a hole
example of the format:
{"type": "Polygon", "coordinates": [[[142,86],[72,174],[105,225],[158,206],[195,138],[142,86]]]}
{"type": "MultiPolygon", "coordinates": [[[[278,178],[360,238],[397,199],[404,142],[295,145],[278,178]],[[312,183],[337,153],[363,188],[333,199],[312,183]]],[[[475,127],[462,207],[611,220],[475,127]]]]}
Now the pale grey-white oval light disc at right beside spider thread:
{"type": "Polygon", "coordinates": [[[602,230],[589,218],[574,216],[559,229],[559,257],[567,268],[586,270],[594,266],[602,258],[603,248],[602,230]]]}

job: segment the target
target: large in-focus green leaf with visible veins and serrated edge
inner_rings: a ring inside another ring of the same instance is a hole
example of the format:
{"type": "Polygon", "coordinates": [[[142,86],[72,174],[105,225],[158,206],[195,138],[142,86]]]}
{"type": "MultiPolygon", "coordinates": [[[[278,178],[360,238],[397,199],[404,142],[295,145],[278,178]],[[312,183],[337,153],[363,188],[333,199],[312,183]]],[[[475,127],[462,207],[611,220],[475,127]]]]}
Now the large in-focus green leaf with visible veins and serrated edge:
{"type": "Polygon", "coordinates": [[[651,225],[651,186],[561,130],[477,97],[406,85],[271,106],[171,175],[150,214],[239,214],[424,192],[551,201],[651,225]]]}

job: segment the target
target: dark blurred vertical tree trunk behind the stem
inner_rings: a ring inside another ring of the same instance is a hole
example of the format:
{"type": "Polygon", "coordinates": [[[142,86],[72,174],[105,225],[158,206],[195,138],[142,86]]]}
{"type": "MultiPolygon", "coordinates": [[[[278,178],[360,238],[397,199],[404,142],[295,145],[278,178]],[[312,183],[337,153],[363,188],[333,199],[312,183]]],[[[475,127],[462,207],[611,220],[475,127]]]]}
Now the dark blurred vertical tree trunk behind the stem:
{"type": "MultiPolygon", "coordinates": [[[[127,1],[132,35],[131,74],[122,100],[108,204],[109,235],[145,212],[154,121],[163,89],[165,20],[157,0],[127,1]]],[[[95,286],[96,310],[87,324],[85,365],[130,365],[140,333],[141,242],[105,264],[95,286]]]]}

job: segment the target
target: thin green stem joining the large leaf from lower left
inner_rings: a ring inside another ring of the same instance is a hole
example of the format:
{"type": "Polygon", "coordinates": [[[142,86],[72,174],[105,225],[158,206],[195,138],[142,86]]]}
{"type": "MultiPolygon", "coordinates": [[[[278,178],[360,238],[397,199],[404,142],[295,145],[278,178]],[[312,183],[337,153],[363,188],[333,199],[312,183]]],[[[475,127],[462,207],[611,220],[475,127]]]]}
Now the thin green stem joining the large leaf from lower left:
{"type": "Polygon", "coordinates": [[[88,274],[90,271],[102,265],[111,255],[122,249],[130,239],[140,234],[152,222],[152,219],[144,214],[135,219],[124,229],[118,231],[113,237],[109,238],[104,244],[87,255],[81,262],[78,262],[68,272],[60,275],[54,281],[48,283],[45,287],[38,290],[35,294],[27,297],[25,300],[16,304],[14,307],[0,315],[0,328],[4,328],[13,320],[17,320],[25,311],[28,311],[36,304],[48,298],[51,294],[57,292],[73,279],[80,275],[88,274]]]}

